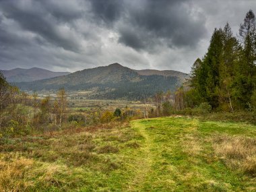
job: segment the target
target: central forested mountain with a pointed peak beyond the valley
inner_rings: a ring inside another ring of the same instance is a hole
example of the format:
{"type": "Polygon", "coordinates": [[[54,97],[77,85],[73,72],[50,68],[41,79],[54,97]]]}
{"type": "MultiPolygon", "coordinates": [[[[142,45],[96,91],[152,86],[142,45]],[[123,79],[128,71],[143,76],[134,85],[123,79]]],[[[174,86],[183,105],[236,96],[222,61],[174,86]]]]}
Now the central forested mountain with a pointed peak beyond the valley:
{"type": "MultiPolygon", "coordinates": [[[[146,70],[148,71],[148,70],[146,70]]],[[[174,91],[181,86],[187,74],[178,71],[156,71],[147,73],[113,63],[104,67],[84,69],[69,75],[42,79],[34,82],[16,83],[22,90],[90,91],[88,98],[138,100],[154,95],[158,91],[174,91]]]]}

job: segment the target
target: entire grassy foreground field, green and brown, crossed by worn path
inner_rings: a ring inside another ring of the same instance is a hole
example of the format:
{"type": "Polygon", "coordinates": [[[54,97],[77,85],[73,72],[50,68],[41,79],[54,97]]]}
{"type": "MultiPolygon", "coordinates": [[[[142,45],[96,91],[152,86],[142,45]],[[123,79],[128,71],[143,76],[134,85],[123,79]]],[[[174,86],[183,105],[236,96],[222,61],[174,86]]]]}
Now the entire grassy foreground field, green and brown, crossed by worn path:
{"type": "Polygon", "coordinates": [[[165,117],[0,142],[0,191],[256,191],[245,123],[165,117]]]}

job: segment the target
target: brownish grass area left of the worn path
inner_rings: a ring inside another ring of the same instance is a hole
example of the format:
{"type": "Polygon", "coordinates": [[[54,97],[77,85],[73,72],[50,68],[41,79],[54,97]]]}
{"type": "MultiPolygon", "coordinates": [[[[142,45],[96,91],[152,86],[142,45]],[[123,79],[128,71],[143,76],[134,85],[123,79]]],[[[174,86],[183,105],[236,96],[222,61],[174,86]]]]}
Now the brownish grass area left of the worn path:
{"type": "Polygon", "coordinates": [[[135,137],[127,123],[107,123],[1,138],[0,191],[70,191],[87,185],[84,174],[121,168],[123,160],[116,156],[135,137]]]}

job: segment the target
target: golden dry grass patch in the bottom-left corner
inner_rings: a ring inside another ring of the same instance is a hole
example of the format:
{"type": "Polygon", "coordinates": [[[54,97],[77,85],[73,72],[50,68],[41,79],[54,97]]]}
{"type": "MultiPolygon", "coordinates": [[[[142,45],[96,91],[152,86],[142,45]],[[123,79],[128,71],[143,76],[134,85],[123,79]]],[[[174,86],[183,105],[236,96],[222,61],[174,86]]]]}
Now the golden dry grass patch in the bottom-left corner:
{"type": "MultiPolygon", "coordinates": [[[[67,166],[38,162],[17,154],[3,154],[0,158],[0,191],[35,191],[36,186],[63,187],[71,182],[62,181],[60,174],[69,174],[67,166]]],[[[72,183],[71,183],[72,184],[72,183]]]]}

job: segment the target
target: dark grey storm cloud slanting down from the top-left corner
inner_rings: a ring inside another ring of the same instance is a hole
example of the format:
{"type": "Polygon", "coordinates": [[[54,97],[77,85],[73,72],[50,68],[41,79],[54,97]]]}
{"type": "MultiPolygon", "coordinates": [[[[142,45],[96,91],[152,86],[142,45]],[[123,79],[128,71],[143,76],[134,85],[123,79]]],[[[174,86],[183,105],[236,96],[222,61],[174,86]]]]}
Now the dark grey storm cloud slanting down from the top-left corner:
{"type": "MultiPolygon", "coordinates": [[[[46,2],[50,1],[3,1],[1,2],[1,11],[3,15],[18,22],[24,30],[34,32],[42,36],[44,40],[61,46],[69,51],[79,51],[79,44],[76,39],[69,38],[65,32],[57,28],[57,18],[72,20],[78,14],[69,12],[69,9],[59,9],[51,6],[46,2]],[[46,9],[48,8],[48,9],[46,9]],[[56,18],[57,16],[57,18],[56,18]]],[[[69,21],[67,20],[67,22],[69,21]]]]}

